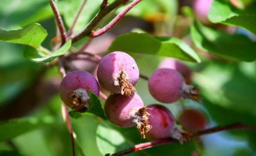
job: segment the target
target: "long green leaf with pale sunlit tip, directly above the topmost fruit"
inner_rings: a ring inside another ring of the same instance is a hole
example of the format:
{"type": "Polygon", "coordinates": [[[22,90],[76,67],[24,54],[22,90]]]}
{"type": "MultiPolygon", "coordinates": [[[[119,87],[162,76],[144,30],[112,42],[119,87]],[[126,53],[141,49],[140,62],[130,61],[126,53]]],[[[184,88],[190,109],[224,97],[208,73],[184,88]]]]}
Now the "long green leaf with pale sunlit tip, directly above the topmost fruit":
{"type": "Polygon", "coordinates": [[[126,33],[118,36],[109,52],[123,51],[179,58],[200,62],[200,58],[186,43],[173,37],[154,37],[146,33],[126,33]]]}

